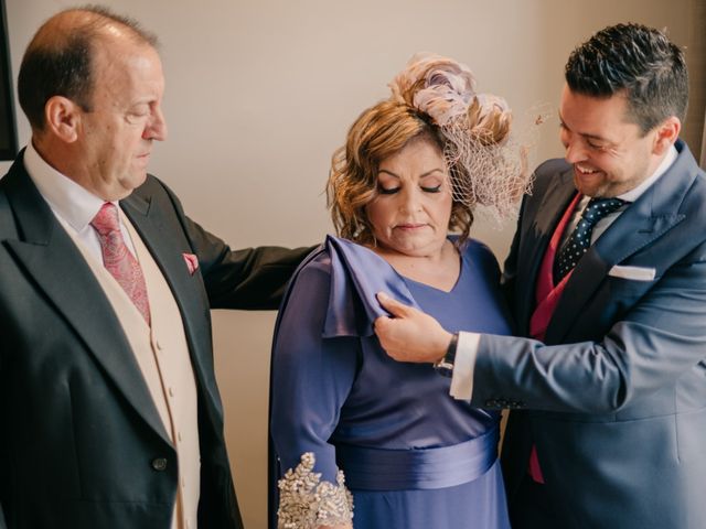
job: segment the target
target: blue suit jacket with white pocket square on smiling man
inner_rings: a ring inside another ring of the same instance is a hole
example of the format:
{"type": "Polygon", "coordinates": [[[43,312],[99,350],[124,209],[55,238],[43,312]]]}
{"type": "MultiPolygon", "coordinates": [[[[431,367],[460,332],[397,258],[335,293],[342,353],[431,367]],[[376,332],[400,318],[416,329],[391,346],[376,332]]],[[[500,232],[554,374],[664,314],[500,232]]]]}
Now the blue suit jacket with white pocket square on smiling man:
{"type": "MultiPolygon", "coordinates": [[[[518,410],[503,447],[511,509],[534,443],[561,527],[706,527],[706,175],[676,148],[580,260],[545,344],[481,338],[472,402],[518,410]],[[616,264],[654,279],[611,276],[616,264]]],[[[536,177],[504,271],[525,335],[541,261],[576,193],[564,161],[536,177]]]]}

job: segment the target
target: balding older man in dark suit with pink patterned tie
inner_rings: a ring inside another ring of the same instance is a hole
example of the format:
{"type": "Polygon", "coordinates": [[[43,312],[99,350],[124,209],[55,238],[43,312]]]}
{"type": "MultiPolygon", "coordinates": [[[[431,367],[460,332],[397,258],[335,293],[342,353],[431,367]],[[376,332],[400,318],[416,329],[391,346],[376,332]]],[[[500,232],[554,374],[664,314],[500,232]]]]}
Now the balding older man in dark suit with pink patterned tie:
{"type": "Polygon", "coordinates": [[[19,76],[32,141],[0,180],[0,528],[242,527],[211,307],[276,309],[306,249],[233,251],[147,174],[154,37],[51,18],[19,76]]]}

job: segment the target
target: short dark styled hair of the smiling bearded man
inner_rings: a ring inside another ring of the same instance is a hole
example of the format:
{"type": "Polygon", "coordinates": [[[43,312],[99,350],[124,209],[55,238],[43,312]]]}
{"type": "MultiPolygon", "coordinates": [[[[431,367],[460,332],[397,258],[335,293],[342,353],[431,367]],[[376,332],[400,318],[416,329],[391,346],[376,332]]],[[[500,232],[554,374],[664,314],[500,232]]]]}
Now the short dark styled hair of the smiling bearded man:
{"type": "Polygon", "coordinates": [[[627,118],[644,134],[670,116],[682,122],[686,116],[684,53],[652,28],[617,24],[599,31],[571,52],[565,77],[576,94],[599,98],[624,94],[627,118]]]}

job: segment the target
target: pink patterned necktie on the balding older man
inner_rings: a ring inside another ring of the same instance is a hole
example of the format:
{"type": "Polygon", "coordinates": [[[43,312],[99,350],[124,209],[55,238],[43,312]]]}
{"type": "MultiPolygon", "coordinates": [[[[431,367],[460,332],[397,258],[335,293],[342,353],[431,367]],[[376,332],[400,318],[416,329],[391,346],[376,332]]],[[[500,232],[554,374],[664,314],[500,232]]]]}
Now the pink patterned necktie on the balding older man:
{"type": "Polygon", "coordinates": [[[118,209],[115,204],[106,202],[98,214],[90,222],[98,233],[103,264],[122,287],[128,298],[132,300],[147,324],[150,324],[150,303],[147,298],[147,287],[140,263],[125,245],[120,233],[118,209]]]}

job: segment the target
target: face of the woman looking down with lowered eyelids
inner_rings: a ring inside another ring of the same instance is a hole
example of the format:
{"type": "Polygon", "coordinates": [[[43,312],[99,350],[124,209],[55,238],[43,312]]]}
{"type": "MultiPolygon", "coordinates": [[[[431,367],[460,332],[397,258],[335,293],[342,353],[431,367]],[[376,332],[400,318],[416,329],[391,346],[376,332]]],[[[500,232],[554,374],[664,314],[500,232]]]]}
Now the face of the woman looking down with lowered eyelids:
{"type": "Polygon", "coordinates": [[[451,217],[443,155],[428,140],[413,140],[377,172],[378,196],[366,206],[381,249],[428,257],[441,251],[451,217]]]}

